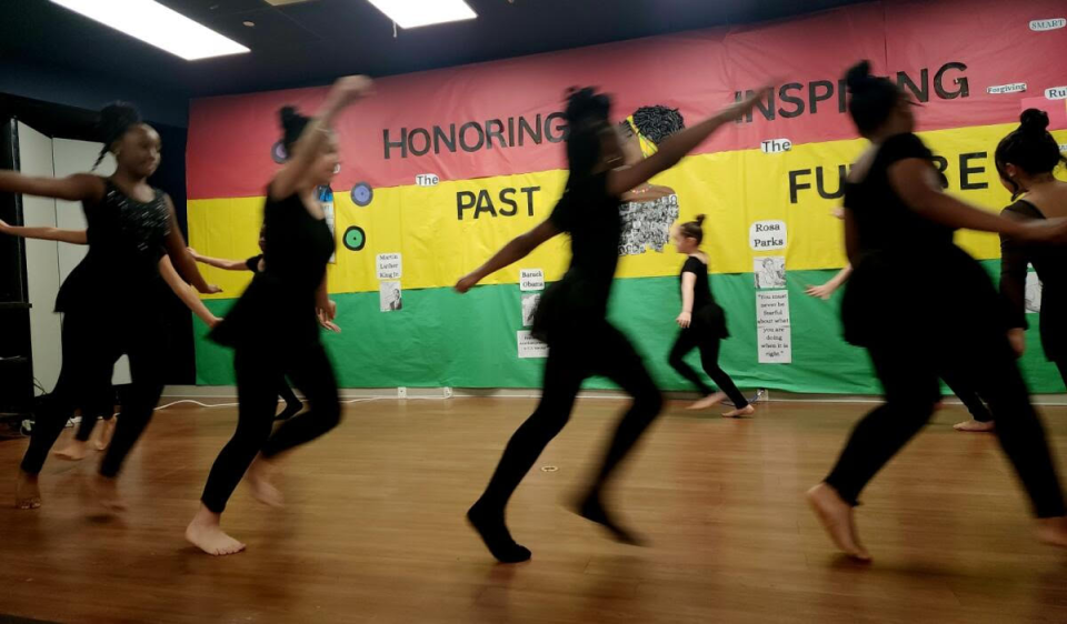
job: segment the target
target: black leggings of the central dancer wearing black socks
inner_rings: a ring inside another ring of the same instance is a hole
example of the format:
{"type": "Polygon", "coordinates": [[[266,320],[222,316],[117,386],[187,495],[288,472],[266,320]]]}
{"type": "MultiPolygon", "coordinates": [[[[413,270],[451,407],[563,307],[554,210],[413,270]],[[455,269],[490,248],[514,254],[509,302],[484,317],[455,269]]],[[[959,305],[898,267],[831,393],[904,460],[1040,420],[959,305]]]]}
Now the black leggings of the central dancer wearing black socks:
{"type": "Polygon", "coordinates": [[[664,405],[640,355],[629,340],[606,321],[584,328],[580,338],[560,336],[550,342],[541,401],[511,436],[479,504],[492,511],[503,510],[534,462],[570,420],[581,383],[592,375],[608,378],[634,397],[594,479],[590,495],[600,494],[664,405]]]}

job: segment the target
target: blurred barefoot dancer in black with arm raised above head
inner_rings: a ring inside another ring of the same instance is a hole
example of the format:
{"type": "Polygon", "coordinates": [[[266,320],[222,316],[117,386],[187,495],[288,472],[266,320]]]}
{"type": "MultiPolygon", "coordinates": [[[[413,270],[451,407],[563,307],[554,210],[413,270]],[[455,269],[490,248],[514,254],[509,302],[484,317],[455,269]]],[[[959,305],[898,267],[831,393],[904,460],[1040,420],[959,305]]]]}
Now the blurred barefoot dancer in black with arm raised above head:
{"type": "Polygon", "coordinates": [[[220,520],[246,471],[252,494],[263,503],[280,505],[281,494],[268,480],[270,465],[281,453],[340,422],[337,380],[316,321],[317,313],[327,321],[336,313],[326,289],[333,236],[315,190],[330,183],[339,162],[331,122],[370,89],[366,77],[342,78],[315,119],[288,107],[281,111],[290,158],[267,187],[265,270],[256,273],[211,333],[217,342],[235,348],[240,409],[237,431],[211,466],[200,511],[186,529],[186,539],[208,554],[245,550],[245,544],[222,532],[220,520]],[[277,389],[285,375],[303,392],[310,409],[271,434],[277,389]]]}

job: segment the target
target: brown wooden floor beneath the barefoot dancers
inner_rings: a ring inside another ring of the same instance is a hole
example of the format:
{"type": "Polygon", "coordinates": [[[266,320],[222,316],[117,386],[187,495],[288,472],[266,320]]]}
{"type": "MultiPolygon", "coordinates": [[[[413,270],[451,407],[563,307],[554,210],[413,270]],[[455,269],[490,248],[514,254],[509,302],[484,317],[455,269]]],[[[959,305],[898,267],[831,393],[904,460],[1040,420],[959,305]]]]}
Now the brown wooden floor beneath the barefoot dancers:
{"type": "MultiPolygon", "coordinates": [[[[651,541],[636,548],[560,505],[622,406],[579,401],[510,507],[534,561],[495,565],[463,512],[532,405],[350,405],[338,430],[286,466],[287,509],[238,490],[225,522],[249,547],[226,558],[187,546],[182,530],[235,410],[160,411],[123,474],[124,517],[92,511],[96,457],[50,461],[43,509],[0,510],[0,614],[198,624],[1067,622],[1067,552],[1030,539],[995,437],[949,426],[964,417],[959,407],[940,412],[866,492],[858,519],[875,562],[862,566],[835,554],[801,493],[867,405],[775,403],[748,421],[670,405],[616,491],[651,541]]],[[[1044,414],[1067,456],[1067,410],[1044,414]]],[[[12,475],[24,444],[0,443],[12,475]]]]}

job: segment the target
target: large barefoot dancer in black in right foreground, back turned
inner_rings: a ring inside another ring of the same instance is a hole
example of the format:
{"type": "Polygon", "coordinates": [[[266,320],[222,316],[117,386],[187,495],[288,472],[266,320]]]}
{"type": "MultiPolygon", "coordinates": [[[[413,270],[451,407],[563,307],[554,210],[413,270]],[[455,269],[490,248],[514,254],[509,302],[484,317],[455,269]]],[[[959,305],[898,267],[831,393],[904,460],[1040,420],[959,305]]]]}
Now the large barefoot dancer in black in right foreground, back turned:
{"type": "Polygon", "coordinates": [[[846,77],[849,113],[871,147],[846,181],[845,244],[855,272],[841,318],[846,340],[870,353],[886,402],[856,425],[837,465],[808,492],[808,501],[839,548],[869,560],[852,506],[926,424],[938,376],[949,370],[983,389],[1000,445],[1039,519],[1039,537],[1067,545],[1059,479],[1005,335],[997,293],[981,265],[953,243],[956,228],[1051,241],[1067,238],[1067,227],[1021,225],[943,193],[933,154],[913,134],[911,101],[869,70],[865,61],[846,77]]]}

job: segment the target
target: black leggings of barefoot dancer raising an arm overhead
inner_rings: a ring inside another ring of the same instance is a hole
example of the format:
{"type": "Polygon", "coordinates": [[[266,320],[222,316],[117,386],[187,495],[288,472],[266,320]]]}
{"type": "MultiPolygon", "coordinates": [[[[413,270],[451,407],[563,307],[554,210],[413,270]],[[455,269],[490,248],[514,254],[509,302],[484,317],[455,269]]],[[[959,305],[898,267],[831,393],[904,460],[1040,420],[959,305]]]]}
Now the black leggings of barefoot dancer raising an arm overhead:
{"type": "Polygon", "coordinates": [[[273,457],[315,440],[341,420],[333,365],[318,342],[273,351],[263,346],[239,346],[233,368],[240,402],[237,431],[211,466],[200,499],[215,513],[226,510],[227,501],[257,454],[273,457]],[[307,396],[310,410],[283,422],[271,434],[278,389],[285,384],[287,374],[307,396]]]}

